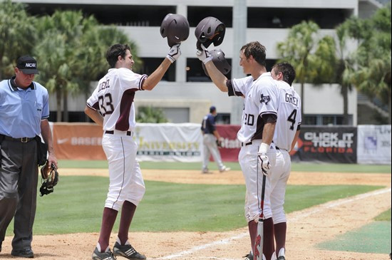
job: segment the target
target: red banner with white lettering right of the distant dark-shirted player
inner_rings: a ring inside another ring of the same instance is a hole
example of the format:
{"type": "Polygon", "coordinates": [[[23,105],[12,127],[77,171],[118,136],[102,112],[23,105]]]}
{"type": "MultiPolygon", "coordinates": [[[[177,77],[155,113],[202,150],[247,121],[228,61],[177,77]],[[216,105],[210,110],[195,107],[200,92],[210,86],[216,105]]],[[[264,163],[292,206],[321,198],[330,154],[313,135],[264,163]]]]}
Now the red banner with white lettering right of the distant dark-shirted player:
{"type": "Polygon", "coordinates": [[[223,162],[238,162],[241,142],[237,139],[240,125],[217,125],[222,147],[219,148],[223,162]]]}

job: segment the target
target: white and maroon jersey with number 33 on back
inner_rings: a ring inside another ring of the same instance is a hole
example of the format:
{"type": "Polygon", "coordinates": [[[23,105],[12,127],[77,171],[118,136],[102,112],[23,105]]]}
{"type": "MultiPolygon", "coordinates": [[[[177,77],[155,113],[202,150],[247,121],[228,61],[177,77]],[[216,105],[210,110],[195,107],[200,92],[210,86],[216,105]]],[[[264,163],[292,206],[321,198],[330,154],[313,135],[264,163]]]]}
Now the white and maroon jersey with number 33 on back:
{"type": "Polygon", "coordinates": [[[135,92],[143,90],[140,75],[128,68],[110,68],[99,80],[87,105],[103,115],[103,130],[133,131],[135,129],[135,92]]]}

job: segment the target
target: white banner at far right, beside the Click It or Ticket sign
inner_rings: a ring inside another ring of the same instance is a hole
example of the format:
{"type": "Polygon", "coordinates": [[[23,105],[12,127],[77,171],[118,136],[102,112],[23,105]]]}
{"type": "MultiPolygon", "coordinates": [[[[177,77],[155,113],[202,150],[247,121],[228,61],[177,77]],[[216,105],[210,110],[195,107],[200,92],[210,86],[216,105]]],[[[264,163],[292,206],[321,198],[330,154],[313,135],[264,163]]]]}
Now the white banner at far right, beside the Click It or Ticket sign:
{"type": "Polygon", "coordinates": [[[391,125],[358,126],[358,163],[391,164],[391,125]]]}

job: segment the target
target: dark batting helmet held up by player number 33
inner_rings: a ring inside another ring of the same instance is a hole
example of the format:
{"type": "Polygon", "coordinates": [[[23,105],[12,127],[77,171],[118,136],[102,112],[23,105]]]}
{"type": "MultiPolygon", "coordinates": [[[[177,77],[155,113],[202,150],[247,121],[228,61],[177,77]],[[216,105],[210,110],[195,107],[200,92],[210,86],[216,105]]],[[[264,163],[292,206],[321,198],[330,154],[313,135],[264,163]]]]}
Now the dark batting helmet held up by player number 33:
{"type": "Polygon", "coordinates": [[[172,47],[188,38],[189,22],[181,14],[167,14],[160,24],[160,35],[167,37],[167,44],[172,47]]]}

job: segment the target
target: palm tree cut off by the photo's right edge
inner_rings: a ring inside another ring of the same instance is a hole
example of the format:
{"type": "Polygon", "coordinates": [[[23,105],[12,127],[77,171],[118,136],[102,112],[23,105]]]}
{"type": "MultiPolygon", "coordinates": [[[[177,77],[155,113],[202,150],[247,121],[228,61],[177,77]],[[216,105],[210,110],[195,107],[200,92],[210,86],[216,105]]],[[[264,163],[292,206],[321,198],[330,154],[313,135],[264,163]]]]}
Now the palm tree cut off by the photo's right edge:
{"type": "Polygon", "coordinates": [[[363,93],[388,104],[391,124],[391,2],[370,19],[351,19],[350,36],[358,40],[351,82],[363,93]]]}

